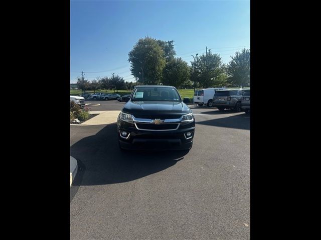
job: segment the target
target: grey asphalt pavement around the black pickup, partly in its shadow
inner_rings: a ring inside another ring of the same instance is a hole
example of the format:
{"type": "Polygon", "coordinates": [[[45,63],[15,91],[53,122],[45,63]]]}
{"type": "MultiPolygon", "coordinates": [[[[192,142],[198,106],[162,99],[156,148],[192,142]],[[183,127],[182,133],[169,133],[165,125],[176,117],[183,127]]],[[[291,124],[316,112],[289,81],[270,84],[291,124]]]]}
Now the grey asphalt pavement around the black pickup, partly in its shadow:
{"type": "Polygon", "coordinates": [[[250,115],[192,107],[190,151],[121,152],[115,123],[70,126],[70,239],[250,239],[250,115]]]}

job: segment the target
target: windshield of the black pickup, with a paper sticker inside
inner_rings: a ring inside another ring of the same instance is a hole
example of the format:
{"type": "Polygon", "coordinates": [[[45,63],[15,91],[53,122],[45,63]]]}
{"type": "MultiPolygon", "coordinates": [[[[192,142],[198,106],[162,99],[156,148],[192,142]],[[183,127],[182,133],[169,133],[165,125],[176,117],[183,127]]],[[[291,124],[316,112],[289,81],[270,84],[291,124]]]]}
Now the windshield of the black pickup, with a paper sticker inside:
{"type": "Polygon", "coordinates": [[[174,87],[142,86],[136,87],[132,101],[181,101],[174,87]]]}

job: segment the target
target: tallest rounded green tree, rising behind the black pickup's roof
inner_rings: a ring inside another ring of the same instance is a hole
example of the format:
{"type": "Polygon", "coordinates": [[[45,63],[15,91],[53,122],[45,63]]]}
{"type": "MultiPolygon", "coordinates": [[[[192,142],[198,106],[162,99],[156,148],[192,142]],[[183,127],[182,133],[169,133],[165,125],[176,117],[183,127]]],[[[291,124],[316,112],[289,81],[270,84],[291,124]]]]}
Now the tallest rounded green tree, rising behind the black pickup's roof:
{"type": "Polygon", "coordinates": [[[141,84],[159,84],[166,64],[164,50],[156,39],[140,38],[128,53],[131,74],[141,84]]]}

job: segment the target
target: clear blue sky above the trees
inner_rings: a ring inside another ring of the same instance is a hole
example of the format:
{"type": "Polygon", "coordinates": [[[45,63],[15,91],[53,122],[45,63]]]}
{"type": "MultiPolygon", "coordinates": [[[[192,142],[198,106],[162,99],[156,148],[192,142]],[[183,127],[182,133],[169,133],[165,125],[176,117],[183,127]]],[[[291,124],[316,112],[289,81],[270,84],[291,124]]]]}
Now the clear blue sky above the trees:
{"type": "Polygon", "coordinates": [[[247,0],[71,0],[70,82],[130,74],[128,52],[141,37],[174,40],[178,57],[206,46],[228,63],[236,50],[250,47],[247,0]],[[103,72],[101,72],[103,71],[103,72]]]}

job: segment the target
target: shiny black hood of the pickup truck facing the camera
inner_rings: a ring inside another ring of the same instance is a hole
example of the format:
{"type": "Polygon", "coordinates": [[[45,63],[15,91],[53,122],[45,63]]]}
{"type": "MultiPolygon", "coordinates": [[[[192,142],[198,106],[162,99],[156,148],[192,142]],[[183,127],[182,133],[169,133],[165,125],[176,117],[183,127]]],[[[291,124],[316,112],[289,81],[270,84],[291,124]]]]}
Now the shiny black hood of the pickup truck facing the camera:
{"type": "Polygon", "coordinates": [[[128,101],[123,112],[139,116],[184,115],[192,110],[184,103],[177,101],[128,101]]]}

